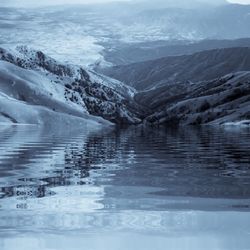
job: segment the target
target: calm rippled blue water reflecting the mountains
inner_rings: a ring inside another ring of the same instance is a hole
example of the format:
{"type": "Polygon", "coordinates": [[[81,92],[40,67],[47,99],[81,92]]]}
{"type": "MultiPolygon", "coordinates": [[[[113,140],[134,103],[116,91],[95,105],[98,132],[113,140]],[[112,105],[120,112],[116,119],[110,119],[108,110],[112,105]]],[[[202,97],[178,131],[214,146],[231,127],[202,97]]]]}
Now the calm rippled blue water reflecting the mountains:
{"type": "Polygon", "coordinates": [[[0,127],[1,250],[249,250],[250,130],[0,127]]]}

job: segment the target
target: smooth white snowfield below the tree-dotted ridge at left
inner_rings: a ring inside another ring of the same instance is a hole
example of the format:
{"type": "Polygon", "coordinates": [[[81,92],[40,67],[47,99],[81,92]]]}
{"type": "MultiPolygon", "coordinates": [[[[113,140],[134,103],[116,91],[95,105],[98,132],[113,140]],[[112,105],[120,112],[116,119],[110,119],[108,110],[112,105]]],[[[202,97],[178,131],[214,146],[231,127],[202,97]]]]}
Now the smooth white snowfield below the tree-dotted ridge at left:
{"type": "Polygon", "coordinates": [[[64,86],[32,71],[0,61],[0,123],[58,126],[111,125],[92,116],[84,103],[64,98],[64,86]]]}

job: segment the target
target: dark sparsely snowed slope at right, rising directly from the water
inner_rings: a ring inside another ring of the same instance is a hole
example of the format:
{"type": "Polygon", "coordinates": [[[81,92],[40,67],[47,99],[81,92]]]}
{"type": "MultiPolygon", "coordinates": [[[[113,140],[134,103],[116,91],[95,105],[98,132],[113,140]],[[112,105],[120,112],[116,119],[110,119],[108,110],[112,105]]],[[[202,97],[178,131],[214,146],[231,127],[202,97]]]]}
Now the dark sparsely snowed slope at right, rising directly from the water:
{"type": "MultiPolygon", "coordinates": [[[[176,90],[175,86],[169,89],[176,90]]],[[[180,85],[177,92],[161,90],[137,96],[148,103],[149,96],[158,107],[146,121],[150,124],[225,124],[250,125],[250,71],[229,74],[212,81],[180,85]],[[162,93],[162,94],[161,94],[162,93]]],[[[152,108],[152,107],[151,107],[152,108]]]]}

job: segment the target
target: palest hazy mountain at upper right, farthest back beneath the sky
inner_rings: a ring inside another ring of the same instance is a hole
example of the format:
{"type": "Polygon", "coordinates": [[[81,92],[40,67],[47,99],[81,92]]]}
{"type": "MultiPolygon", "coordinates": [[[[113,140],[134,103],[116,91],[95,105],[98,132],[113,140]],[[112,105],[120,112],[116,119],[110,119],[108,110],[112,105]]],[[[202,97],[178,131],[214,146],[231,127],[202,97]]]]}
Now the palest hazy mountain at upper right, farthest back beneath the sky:
{"type": "Polygon", "coordinates": [[[124,30],[128,34],[136,31],[134,36],[138,41],[147,35],[151,40],[237,39],[250,36],[249,13],[250,5],[237,4],[150,9],[125,19],[124,30]]]}

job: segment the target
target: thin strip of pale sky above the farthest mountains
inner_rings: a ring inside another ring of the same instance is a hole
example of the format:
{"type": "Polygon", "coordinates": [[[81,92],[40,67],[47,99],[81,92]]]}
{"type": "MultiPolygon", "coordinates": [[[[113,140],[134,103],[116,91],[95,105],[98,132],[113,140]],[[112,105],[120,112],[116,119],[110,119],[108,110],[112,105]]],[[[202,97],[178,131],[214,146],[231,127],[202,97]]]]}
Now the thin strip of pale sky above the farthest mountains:
{"type": "MultiPolygon", "coordinates": [[[[27,6],[27,5],[57,5],[57,4],[79,4],[79,3],[104,3],[112,1],[133,1],[133,0],[0,0],[4,6],[27,6]]],[[[141,0],[143,1],[143,0],[141,0]]],[[[184,2],[185,0],[183,0],[184,2]]],[[[204,2],[209,2],[209,0],[203,0],[204,2]]],[[[250,0],[228,0],[232,3],[250,4],[250,0]]]]}

